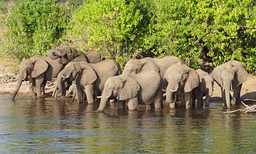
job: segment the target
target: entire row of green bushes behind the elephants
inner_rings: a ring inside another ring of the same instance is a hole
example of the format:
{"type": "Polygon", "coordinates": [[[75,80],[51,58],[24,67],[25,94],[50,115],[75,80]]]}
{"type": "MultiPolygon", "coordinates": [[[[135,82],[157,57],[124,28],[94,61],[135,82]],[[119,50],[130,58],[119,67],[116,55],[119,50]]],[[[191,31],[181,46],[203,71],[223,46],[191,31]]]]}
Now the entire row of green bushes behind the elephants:
{"type": "Polygon", "coordinates": [[[73,45],[122,66],[145,56],[176,55],[194,68],[201,58],[212,67],[236,59],[256,72],[254,0],[84,0],[72,6],[18,3],[6,18],[8,49],[22,58],[73,45]]]}

